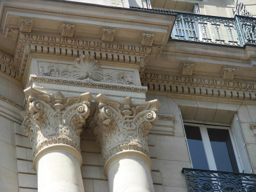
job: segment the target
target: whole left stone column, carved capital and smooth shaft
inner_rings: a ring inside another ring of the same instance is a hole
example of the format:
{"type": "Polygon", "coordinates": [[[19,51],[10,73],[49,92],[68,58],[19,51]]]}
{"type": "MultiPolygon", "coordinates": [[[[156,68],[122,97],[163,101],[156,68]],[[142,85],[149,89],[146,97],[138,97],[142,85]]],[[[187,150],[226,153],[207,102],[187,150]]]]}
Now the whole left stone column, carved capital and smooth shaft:
{"type": "Polygon", "coordinates": [[[80,134],[89,115],[90,93],[64,97],[24,90],[27,110],[22,129],[28,134],[40,192],[83,192],[80,134]]]}

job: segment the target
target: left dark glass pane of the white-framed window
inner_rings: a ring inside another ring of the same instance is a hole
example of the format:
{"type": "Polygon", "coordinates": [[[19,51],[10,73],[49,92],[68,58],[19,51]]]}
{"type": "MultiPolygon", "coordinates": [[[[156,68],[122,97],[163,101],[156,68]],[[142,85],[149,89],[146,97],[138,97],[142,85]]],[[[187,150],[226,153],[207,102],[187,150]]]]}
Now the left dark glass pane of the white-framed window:
{"type": "Polygon", "coordinates": [[[194,169],[209,170],[199,127],[184,125],[194,169]]]}

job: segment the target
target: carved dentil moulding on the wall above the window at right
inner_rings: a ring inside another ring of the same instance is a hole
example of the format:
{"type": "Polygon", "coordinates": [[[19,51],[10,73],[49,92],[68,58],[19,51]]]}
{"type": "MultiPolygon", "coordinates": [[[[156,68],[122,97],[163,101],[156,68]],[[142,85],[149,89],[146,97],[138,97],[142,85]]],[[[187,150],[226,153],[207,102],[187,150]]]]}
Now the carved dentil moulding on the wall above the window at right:
{"type": "Polygon", "coordinates": [[[142,73],[149,91],[170,92],[239,100],[256,100],[256,84],[188,76],[142,73]]]}

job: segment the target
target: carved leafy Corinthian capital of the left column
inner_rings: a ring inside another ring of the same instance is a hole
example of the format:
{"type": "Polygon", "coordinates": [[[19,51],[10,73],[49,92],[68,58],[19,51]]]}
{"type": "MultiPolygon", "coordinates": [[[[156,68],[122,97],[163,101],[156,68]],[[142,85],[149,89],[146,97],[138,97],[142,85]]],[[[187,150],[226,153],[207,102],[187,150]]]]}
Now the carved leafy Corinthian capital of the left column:
{"type": "Polygon", "coordinates": [[[34,88],[25,91],[27,110],[22,129],[32,145],[33,157],[55,144],[65,144],[80,152],[80,134],[89,115],[90,93],[65,97],[61,92],[50,95],[34,88]]]}

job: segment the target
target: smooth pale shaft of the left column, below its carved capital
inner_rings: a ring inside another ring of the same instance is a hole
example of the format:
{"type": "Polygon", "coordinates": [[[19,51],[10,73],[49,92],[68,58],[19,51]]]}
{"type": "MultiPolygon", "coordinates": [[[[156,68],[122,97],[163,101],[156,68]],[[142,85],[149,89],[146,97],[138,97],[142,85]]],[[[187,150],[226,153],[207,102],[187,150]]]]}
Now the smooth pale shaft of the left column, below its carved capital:
{"type": "MultiPolygon", "coordinates": [[[[84,192],[78,153],[65,146],[45,149],[36,158],[38,191],[84,192]]],[[[79,156],[81,156],[79,154],[79,156]]]]}

